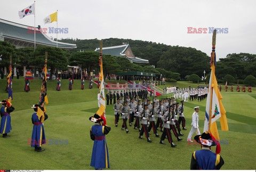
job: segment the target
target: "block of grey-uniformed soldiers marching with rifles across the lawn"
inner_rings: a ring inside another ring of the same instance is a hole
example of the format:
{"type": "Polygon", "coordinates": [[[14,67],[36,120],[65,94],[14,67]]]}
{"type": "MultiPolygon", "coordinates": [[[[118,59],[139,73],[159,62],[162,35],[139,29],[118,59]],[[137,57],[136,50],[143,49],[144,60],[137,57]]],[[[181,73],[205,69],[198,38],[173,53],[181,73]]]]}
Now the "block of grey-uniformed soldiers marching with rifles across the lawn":
{"type": "Polygon", "coordinates": [[[145,133],[148,142],[152,142],[149,137],[151,129],[156,137],[160,137],[157,133],[158,128],[160,128],[163,133],[159,143],[165,144],[164,140],[167,139],[171,143],[171,147],[176,147],[177,145],[173,143],[171,130],[178,141],[182,140],[179,136],[184,135],[181,133],[180,123],[182,130],[187,130],[183,104],[183,100],[179,105],[179,102],[175,101],[174,98],[158,101],[155,97],[153,104],[151,104],[149,98],[143,99],[141,102],[138,96],[136,99],[127,98],[125,101],[121,97],[114,104],[115,126],[118,126],[119,116],[121,116],[123,122],[121,129],[128,133],[127,121],[129,126],[132,126],[135,121],[133,128],[139,131],[139,139],[143,139],[142,135],[145,133]]]}

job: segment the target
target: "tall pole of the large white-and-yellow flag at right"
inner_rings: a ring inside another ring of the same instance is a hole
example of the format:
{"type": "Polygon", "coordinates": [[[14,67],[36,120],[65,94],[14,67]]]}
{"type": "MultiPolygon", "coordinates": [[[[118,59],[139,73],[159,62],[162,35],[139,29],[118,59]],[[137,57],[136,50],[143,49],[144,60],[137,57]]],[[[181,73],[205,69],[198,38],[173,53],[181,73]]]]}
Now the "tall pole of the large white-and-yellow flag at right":
{"type": "MultiPolygon", "coordinates": [[[[211,58],[211,66],[212,66],[212,72],[211,75],[213,75],[213,72],[215,74],[215,45],[216,45],[216,30],[214,29],[213,31],[213,35],[212,35],[212,58],[211,58]]],[[[212,77],[211,77],[212,79],[212,77]]],[[[210,82],[209,82],[210,83],[210,82]]],[[[212,85],[209,85],[209,87],[211,87],[211,101],[210,101],[210,114],[209,114],[209,128],[208,131],[209,133],[211,133],[211,123],[212,123],[212,92],[213,92],[213,88],[212,85]]]]}

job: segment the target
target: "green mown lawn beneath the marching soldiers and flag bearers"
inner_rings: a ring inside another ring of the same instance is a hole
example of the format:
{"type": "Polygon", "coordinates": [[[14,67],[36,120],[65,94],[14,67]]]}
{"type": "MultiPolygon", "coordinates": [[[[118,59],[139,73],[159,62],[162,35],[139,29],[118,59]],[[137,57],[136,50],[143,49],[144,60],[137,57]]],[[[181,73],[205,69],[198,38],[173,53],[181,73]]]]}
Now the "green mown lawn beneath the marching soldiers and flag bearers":
{"type": "MultiPolygon", "coordinates": [[[[185,84],[175,83],[180,87],[185,84]]],[[[74,90],[70,91],[68,80],[61,80],[61,91],[58,92],[55,91],[56,81],[47,82],[49,105],[46,110],[49,119],[44,122],[46,139],[68,140],[68,145],[47,144],[43,145],[44,152],[34,152],[27,144],[33,128],[33,109],[30,106],[38,102],[41,81],[31,82],[31,91],[26,93],[23,91],[24,80],[14,79],[13,129],[11,137],[0,137],[0,169],[93,169],[90,167],[93,141],[89,132],[93,123],[89,117],[98,110],[98,89],[95,84],[93,89],[88,89],[87,81],[84,90],[80,89],[80,85],[81,82],[75,80],[74,90]]],[[[0,80],[0,99],[7,98],[5,86],[6,80],[0,80]]],[[[220,139],[228,140],[227,145],[221,145],[221,156],[225,160],[221,169],[255,169],[256,93],[221,93],[229,122],[228,132],[219,130],[220,139]]],[[[153,134],[153,143],[140,140],[138,131],[133,127],[129,127],[129,134],[121,131],[121,122],[118,127],[114,126],[113,106],[107,106],[107,124],[111,126],[111,132],[106,136],[110,169],[189,169],[191,153],[200,149],[199,145],[188,145],[186,142],[191,115],[194,106],[201,106],[199,126],[203,132],[205,103],[206,100],[185,104],[188,130],[182,131],[185,134],[182,141],[174,139],[178,145],[175,148],[171,148],[170,144],[159,144],[159,138],[153,134]]]]}

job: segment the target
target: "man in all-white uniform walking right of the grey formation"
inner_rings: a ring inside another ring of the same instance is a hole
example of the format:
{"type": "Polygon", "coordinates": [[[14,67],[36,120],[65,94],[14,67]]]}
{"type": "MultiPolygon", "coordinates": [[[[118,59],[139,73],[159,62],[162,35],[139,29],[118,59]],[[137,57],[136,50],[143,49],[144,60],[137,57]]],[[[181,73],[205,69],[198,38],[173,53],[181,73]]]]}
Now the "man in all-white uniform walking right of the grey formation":
{"type": "Polygon", "coordinates": [[[198,126],[198,112],[199,112],[199,106],[194,107],[195,111],[192,115],[192,127],[191,130],[188,134],[188,138],[187,141],[193,142],[193,140],[191,140],[191,137],[193,136],[194,132],[196,132],[196,135],[201,135],[200,131],[199,131],[199,126],[198,126]]]}

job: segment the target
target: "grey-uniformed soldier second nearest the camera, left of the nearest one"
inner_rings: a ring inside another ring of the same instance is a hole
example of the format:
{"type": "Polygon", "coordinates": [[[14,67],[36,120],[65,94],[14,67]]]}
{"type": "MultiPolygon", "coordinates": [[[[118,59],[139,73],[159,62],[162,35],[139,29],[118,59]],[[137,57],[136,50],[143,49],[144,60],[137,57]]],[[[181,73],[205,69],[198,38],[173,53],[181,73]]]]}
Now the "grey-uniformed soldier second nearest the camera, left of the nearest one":
{"type": "Polygon", "coordinates": [[[139,117],[141,118],[141,130],[140,130],[140,136],[139,139],[143,139],[142,135],[143,132],[145,133],[145,136],[147,137],[147,141],[148,142],[152,142],[152,140],[150,140],[149,138],[149,134],[148,134],[148,117],[150,115],[150,111],[148,110],[148,105],[145,104],[144,105],[145,109],[141,110],[141,112],[139,113],[139,117]]]}

